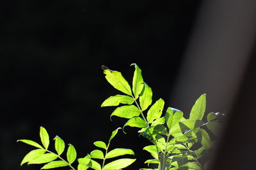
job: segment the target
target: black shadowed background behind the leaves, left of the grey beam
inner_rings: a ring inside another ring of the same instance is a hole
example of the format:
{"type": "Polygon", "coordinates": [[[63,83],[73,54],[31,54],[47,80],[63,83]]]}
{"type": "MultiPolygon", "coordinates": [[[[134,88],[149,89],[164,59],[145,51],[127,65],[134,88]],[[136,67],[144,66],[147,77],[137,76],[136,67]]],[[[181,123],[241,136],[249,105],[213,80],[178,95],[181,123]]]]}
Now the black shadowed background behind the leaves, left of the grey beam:
{"type": "MultiPolygon", "coordinates": [[[[16,143],[39,142],[40,126],[51,139],[59,135],[72,143],[77,157],[84,157],[95,149],[94,141],[108,141],[111,132],[124,125],[124,119],[109,120],[114,107],[100,107],[119,93],[104,79],[101,65],[122,72],[131,82],[134,68],[129,65],[137,63],[154,100],[161,97],[168,103],[200,5],[201,1],[1,2],[1,169],[40,169],[19,166],[33,147],[16,143]]],[[[253,66],[248,72],[255,72],[253,66]]],[[[246,78],[249,84],[252,77],[246,78]]],[[[112,146],[134,149],[138,161],[129,169],[146,167],[143,162],[150,155],[141,148],[148,142],[133,128],[126,131],[112,146]]]]}

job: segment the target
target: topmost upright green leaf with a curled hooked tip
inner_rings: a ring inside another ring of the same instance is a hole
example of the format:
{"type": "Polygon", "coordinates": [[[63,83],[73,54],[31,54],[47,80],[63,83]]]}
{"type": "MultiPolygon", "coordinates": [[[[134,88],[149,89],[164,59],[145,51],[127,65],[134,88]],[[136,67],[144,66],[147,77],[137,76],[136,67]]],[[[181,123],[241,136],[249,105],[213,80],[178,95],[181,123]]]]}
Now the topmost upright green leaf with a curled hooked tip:
{"type": "Polygon", "coordinates": [[[141,75],[141,69],[135,64],[132,63],[131,66],[135,66],[135,71],[132,79],[132,91],[134,93],[134,97],[137,99],[143,89],[143,77],[141,75]]]}

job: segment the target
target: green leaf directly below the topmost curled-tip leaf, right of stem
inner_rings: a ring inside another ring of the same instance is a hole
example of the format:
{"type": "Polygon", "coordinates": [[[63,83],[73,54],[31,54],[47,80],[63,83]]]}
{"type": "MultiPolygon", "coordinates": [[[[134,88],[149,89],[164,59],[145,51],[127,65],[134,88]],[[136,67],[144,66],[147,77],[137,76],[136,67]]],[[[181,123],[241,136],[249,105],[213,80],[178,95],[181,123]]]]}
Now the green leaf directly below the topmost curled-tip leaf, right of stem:
{"type": "Polygon", "coordinates": [[[144,82],[143,89],[140,95],[141,111],[145,111],[150,104],[152,104],[152,89],[144,82]]]}

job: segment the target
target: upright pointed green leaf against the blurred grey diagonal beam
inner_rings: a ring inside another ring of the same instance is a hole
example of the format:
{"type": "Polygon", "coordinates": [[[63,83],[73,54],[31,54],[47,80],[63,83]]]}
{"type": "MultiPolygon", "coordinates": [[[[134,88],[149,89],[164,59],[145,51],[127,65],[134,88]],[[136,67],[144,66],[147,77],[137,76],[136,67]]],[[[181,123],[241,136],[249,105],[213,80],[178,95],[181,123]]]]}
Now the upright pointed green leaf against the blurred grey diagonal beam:
{"type": "Polygon", "coordinates": [[[206,94],[203,94],[196,100],[195,104],[193,105],[189,114],[189,119],[202,120],[204,117],[205,105],[206,94]]]}

